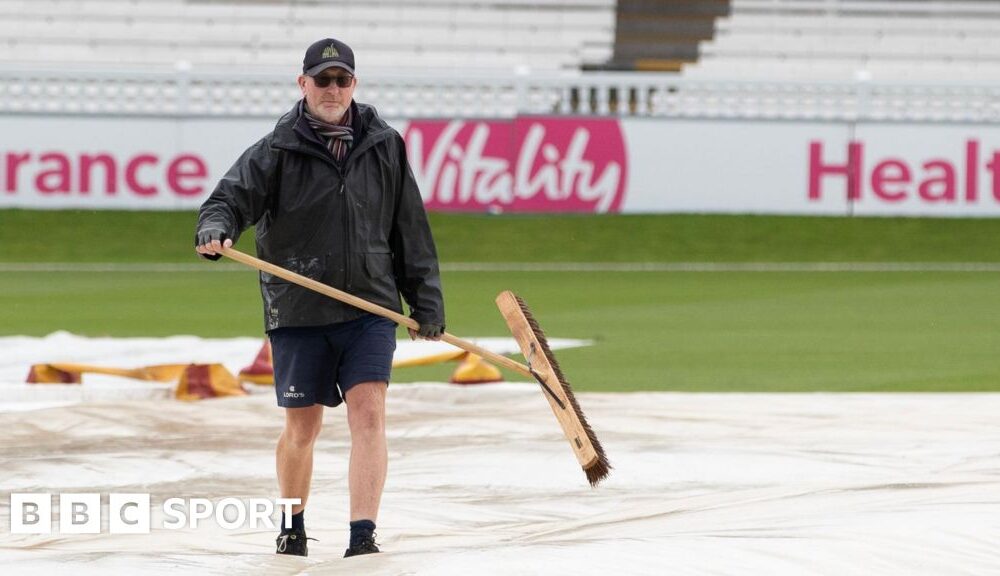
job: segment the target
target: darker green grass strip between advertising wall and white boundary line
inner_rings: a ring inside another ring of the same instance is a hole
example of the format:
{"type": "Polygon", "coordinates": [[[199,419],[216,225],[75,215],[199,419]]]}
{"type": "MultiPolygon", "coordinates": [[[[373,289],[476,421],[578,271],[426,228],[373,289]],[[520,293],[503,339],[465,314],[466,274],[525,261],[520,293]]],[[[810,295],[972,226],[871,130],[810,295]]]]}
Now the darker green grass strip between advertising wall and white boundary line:
{"type": "MultiPolygon", "coordinates": [[[[194,212],[0,210],[0,262],[194,262],[194,212]]],[[[1000,219],[432,214],[443,262],[1000,262],[1000,219]]],[[[240,247],[251,250],[252,233],[240,247]]]]}

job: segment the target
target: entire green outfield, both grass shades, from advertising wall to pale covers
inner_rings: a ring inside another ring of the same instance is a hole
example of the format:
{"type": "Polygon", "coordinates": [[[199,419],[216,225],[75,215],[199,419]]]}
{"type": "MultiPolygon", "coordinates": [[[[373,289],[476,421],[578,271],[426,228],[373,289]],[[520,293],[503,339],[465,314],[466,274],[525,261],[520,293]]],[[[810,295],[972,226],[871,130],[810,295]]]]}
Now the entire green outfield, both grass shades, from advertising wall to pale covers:
{"type": "MultiPolygon", "coordinates": [[[[0,334],[261,335],[246,271],[40,271],[189,263],[193,213],[0,211],[0,334]]],[[[1000,262],[1000,220],[433,215],[442,262],[1000,262]]],[[[250,242],[241,247],[250,249],[250,242]]],[[[504,336],[513,289],[581,390],[1000,389],[1000,272],[461,271],[449,331],[504,336]]],[[[398,370],[447,378],[453,366],[398,370]]]]}

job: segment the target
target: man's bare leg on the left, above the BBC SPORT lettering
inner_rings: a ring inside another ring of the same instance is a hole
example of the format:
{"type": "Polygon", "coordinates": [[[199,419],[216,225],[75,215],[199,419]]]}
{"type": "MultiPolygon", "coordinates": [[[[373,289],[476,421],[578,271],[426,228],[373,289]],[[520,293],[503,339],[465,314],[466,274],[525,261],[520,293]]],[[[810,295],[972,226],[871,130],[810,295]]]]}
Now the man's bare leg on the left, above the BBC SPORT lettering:
{"type": "Polygon", "coordinates": [[[281,497],[302,500],[292,507],[292,514],[301,512],[309,499],[313,446],[322,427],[322,404],[285,409],[285,429],[278,438],[276,460],[281,497]]]}

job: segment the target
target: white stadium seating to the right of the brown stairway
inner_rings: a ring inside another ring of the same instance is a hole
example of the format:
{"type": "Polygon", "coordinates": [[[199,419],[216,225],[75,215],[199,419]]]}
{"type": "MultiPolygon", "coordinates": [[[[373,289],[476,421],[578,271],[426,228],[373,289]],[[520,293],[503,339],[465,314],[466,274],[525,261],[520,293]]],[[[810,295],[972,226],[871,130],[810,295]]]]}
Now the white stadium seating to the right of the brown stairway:
{"type": "Polygon", "coordinates": [[[1000,79],[1000,3],[733,0],[688,77],[1000,79]]]}

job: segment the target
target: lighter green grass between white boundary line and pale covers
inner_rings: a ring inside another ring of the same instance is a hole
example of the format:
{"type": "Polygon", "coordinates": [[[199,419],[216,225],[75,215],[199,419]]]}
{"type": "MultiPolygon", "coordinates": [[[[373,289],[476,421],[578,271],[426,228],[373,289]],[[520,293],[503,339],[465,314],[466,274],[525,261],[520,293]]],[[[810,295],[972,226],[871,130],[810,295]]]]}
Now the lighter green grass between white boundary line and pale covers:
{"type": "MultiPolygon", "coordinates": [[[[451,272],[444,282],[457,335],[506,335],[492,298],[510,288],[549,336],[595,341],[558,353],[581,390],[1000,387],[1000,274],[451,272]]],[[[3,274],[0,294],[7,334],[262,335],[247,272],[3,274]]]]}

